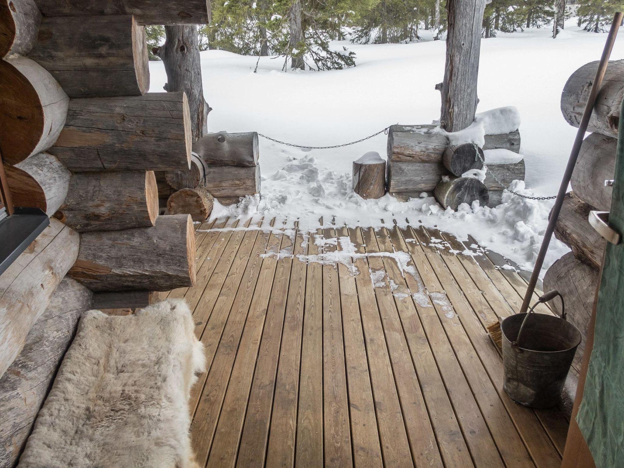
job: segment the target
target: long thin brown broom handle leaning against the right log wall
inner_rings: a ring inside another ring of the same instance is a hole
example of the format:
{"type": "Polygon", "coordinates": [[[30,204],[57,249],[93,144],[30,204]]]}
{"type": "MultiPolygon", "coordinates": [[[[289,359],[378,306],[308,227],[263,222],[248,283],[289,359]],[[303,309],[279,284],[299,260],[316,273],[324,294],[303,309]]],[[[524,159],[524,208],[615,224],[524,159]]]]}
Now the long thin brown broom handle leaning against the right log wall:
{"type": "Polygon", "coordinates": [[[577,163],[578,152],[581,149],[581,144],[583,143],[583,138],[585,137],[587,124],[589,123],[589,119],[592,116],[592,110],[596,103],[598,92],[600,91],[600,85],[602,85],[602,79],[605,76],[605,72],[607,71],[609,56],[611,55],[611,51],[613,49],[615,36],[617,36],[620,24],[622,24],[622,16],[622,12],[618,12],[613,16],[611,29],[609,29],[609,35],[607,36],[607,43],[605,44],[605,48],[602,51],[602,57],[600,57],[600,64],[598,64],[596,76],[593,79],[592,89],[590,90],[589,97],[587,98],[587,104],[585,104],[583,118],[581,119],[580,125],[578,125],[577,137],[574,140],[574,144],[572,145],[572,151],[570,152],[568,165],[565,167],[563,179],[561,181],[559,192],[557,194],[557,200],[555,200],[555,205],[552,207],[552,212],[550,213],[548,227],[546,228],[546,232],[544,234],[544,240],[542,241],[540,252],[537,254],[535,268],[533,269],[533,273],[531,274],[531,279],[529,280],[529,286],[527,286],[527,293],[524,295],[524,301],[522,301],[520,313],[524,313],[529,309],[531,297],[533,296],[535,286],[537,285],[540,271],[542,271],[544,257],[546,256],[546,252],[548,251],[548,244],[550,244],[550,238],[552,238],[552,233],[555,230],[555,224],[557,224],[557,218],[559,217],[559,212],[561,211],[561,207],[563,205],[563,197],[565,196],[565,192],[568,190],[568,183],[570,183],[570,178],[572,178],[572,171],[574,170],[574,166],[577,163]]]}

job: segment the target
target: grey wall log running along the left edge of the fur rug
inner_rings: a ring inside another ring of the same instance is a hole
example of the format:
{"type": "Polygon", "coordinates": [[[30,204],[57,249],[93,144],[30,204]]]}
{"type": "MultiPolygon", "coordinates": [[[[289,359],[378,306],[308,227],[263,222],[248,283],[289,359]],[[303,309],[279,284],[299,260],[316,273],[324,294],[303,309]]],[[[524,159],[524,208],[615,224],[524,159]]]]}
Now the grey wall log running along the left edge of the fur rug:
{"type": "Polygon", "coordinates": [[[0,466],[15,466],[80,315],[92,307],[91,291],[64,278],[26,336],[21,353],[0,379],[0,466]]]}

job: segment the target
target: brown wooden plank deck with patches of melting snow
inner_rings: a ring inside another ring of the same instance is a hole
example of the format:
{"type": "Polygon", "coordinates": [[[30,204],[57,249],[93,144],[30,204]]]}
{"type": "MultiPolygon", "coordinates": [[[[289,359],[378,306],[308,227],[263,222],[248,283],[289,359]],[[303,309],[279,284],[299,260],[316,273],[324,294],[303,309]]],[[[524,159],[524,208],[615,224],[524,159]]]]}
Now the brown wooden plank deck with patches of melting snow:
{"type": "Polygon", "coordinates": [[[324,246],[281,227],[199,226],[197,285],[169,294],[208,356],[191,402],[200,466],[560,466],[568,422],[507,397],[485,333],[519,310],[520,275],[422,227],[319,229],[343,238],[324,246]],[[346,264],[305,261],[349,240],[346,264]]]}

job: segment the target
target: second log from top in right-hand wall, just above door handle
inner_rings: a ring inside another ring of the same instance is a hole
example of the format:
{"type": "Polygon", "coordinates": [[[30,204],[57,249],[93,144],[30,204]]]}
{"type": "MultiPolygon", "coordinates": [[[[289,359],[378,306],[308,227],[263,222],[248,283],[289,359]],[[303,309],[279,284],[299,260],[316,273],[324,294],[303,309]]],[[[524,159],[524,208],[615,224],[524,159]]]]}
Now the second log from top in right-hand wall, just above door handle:
{"type": "Polygon", "coordinates": [[[617,146],[615,138],[589,135],[583,140],[570,180],[578,198],[603,212],[611,210],[613,188],[605,187],[605,180],[613,180],[617,146]]]}

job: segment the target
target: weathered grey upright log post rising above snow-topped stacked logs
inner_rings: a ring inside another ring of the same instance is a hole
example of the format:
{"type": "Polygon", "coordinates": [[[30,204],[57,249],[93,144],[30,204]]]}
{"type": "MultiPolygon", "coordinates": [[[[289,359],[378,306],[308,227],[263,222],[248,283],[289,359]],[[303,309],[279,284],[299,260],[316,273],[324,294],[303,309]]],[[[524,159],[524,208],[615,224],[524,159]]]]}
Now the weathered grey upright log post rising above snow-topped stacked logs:
{"type": "Polygon", "coordinates": [[[442,82],[441,127],[448,132],[472,124],[477,109],[479,49],[485,0],[448,0],[449,28],[442,82]]]}

